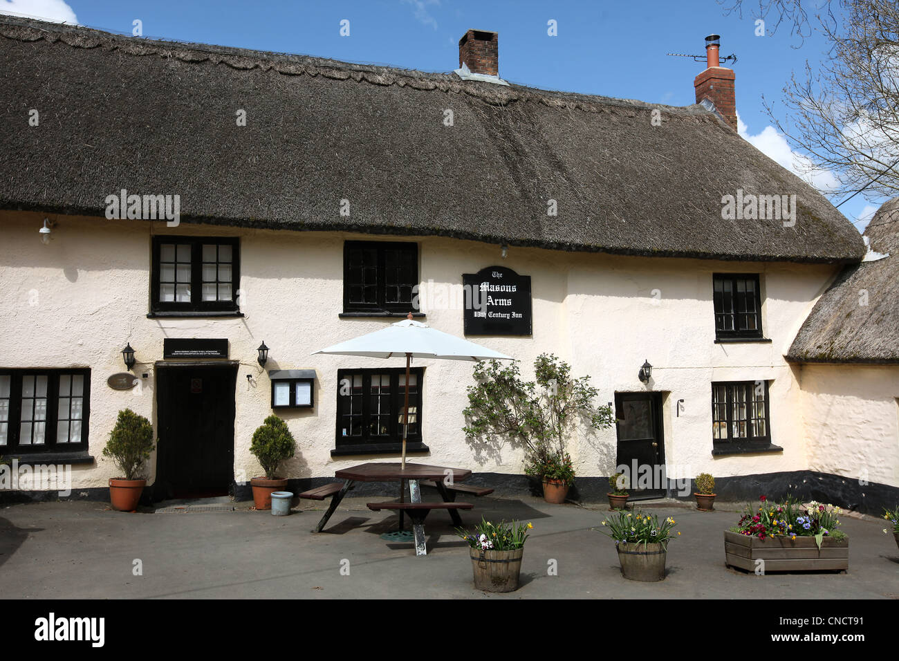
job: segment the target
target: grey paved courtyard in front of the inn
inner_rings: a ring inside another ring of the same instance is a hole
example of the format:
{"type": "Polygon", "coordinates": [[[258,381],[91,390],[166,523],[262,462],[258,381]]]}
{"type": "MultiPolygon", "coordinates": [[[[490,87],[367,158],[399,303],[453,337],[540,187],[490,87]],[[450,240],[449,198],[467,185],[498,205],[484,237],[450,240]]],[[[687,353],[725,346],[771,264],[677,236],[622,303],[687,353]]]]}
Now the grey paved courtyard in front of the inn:
{"type": "Polygon", "coordinates": [[[844,516],[850,535],[846,574],[754,576],[724,564],[723,531],[737,516],[683,504],[647,509],[677,520],[662,583],[625,580],[615,545],[592,531],[609,514],[598,505],[547,505],[539,498],[484,497],[463,512],[480,520],[533,523],[521,587],[485,594],[472,584],[467,544],[445,513],[428,518],[428,555],[379,537],[396,515],[373,513],[346,498],[321,534],[324,507],[302,505],[285,517],[247,509],[125,514],[103,503],[0,507],[0,594],[4,598],[899,598],[899,549],[883,524],[844,516]],[[313,509],[317,508],[317,509],[313,509]],[[133,567],[142,567],[135,576],[133,567]],[[553,562],[555,561],[555,562],[553,562]],[[556,576],[548,573],[557,568],[556,576]]]}

